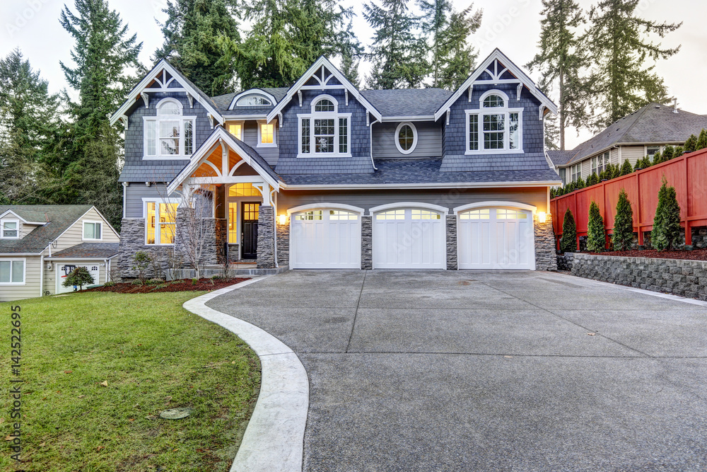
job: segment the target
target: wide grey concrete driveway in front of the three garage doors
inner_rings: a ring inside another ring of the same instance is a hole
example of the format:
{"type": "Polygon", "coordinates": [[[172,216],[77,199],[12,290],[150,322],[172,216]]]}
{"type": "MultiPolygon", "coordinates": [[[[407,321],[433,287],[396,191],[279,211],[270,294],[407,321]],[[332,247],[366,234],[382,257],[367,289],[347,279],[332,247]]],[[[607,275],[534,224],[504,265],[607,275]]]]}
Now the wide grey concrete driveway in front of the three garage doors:
{"type": "Polygon", "coordinates": [[[707,469],[705,306],[464,271],[289,271],[208,305],[300,357],[306,471],[707,469]]]}

